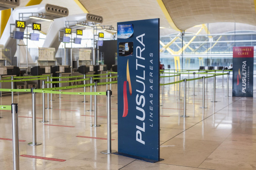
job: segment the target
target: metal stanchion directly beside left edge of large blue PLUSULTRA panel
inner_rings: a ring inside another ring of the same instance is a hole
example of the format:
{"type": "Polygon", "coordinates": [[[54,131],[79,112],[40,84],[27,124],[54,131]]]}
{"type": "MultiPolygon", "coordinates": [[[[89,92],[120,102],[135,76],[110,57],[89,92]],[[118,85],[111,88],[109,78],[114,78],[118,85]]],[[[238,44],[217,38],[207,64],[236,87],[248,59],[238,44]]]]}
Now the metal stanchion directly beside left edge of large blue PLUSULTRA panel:
{"type": "Polygon", "coordinates": [[[117,152],[111,149],[111,93],[107,90],[107,150],[101,151],[102,154],[113,154],[117,152]]]}

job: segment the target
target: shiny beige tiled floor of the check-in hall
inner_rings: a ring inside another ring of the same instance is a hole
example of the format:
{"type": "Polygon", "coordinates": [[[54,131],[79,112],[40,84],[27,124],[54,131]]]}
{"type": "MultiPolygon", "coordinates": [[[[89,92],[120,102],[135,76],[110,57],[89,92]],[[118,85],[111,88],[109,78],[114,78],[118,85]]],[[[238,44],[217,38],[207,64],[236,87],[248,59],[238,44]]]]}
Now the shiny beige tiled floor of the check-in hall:
{"type": "MultiPolygon", "coordinates": [[[[184,78],[184,77],[183,77],[184,78]]],[[[232,95],[230,77],[230,96],[232,95]]],[[[173,78],[170,79],[170,82],[173,78]]],[[[165,83],[169,78],[165,79],[165,83]]],[[[143,162],[115,154],[101,154],[107,149],[107,140],[81,138],[90,136],[107,138],[106,96],[98,97],[98,123],[101,127],[90,127],[94,112],[90,104],[82,103],[83,96],[53,95],[52,109],[46,110],[48,123],[42,120],[42,95],[36,94],[37,141],[42,145],[28,146],[32,142],[31,94],[15,95],[18,103],[19,154],[42,156],[66,160],[57,162],[20,156],[21,170],[75,170],[75,169],[127,169],[127,170],[246,170],[256,169],[256,103],[255,98],[226,97],[226,77],[217,77],[216,101],[212,103],[212,78],[208,80],[206,93],[207,109],[202,107],[202,79],[196,82],[196,96],[193,96],[193,81],[187,85],[187,118],[183,115],[184,101],[177,101],[174,85],[166,86],[163,100],[160,100],[160,157],[157,163],[143,162]],[[86,116],[85,116],[86,115],[86,116]],[[46,126],[63,125],[70,127],[46,126]]],[[[181,85],[183,96],[183,84],[181,85]]],[[[112,85],[112,148],[117,148],[117,85],[112,85]]],[[[73,89],[67,91],[83,91],[73,89]]],[[[87,89],[89,91],[89,88],[87,89]]],[[[106,91],[99,86],[98,91],[106,91]]],[[[161,91],[161,88],[160,88],[161,91]]],[[[89,96],[87,96],[89,101],[89,96]]],[[[183,99],[183,98],[182,98],[183,99]]],[[[1,105],[10,105],[9,95],[0,98],[1,105]]],[[[47,103],[46,103],[47,104],[47,103]]],[[[12,138],[10,111],[0,111],[0,138],[12,138]]],[[[12,141],[0,140],[0,169],[12,169],[12,141]]]]}

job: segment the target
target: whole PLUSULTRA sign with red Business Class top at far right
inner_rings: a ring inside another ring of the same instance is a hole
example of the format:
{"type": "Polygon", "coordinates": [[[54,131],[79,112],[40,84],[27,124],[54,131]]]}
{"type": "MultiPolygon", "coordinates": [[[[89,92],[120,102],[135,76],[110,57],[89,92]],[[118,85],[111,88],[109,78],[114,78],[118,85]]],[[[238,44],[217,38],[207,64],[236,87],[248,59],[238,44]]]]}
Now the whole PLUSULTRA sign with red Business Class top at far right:
{"type": "Polygon", "coordinates": [[[232,96],[253,97],[254,47],[233,47],[232,96]]]}

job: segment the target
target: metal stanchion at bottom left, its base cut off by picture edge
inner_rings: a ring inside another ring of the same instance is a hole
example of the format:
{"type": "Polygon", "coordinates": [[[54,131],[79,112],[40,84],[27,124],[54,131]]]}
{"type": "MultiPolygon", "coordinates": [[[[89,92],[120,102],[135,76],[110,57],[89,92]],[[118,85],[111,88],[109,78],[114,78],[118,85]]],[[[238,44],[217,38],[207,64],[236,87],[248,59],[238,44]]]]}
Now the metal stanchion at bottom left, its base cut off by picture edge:
{"type": "Polygon", "coordinates": [[[12,151],[13,169],[19,170],[18,104],[12,103],[12,151]]]}

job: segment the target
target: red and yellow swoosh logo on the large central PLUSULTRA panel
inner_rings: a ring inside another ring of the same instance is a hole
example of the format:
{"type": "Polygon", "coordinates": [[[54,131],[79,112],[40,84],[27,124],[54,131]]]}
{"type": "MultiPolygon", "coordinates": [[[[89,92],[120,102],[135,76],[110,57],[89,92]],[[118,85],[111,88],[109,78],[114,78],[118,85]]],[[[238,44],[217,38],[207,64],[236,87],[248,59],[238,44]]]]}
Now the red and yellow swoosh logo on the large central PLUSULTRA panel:
{"type": "Polygon", "coordinates": [[[128,114],[128,99],[127,99],[127,82],[129,84],[129,93],[132,94],[131,90],[131,78],[129,72],[129,60],[127,60],[126,66],[126,79],[127,81],[123,82],[123,117],[126,117],[128,114]]]}

